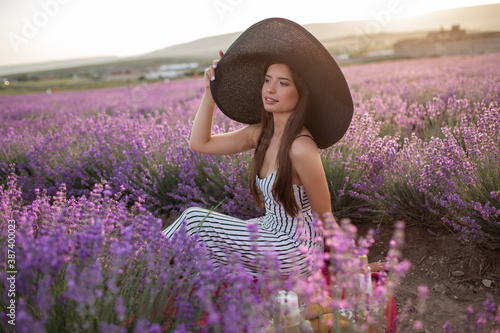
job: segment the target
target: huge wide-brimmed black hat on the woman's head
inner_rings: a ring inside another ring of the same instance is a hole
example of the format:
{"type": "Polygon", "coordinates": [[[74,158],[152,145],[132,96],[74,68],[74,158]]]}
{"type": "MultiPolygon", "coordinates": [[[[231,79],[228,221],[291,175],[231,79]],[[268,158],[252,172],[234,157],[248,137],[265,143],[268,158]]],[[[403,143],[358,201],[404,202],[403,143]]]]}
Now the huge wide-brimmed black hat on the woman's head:
{"type": "Polygon", "coordinates": [[[270,61],[287,64],[306,82],[310,109],[305,127],[319,148],[339,141],[347,131],[353,102],[342,71],[330,52],[299,24],[270,18],[245,30],[227,49],[210,89],[229,118],[244,124],[261,121],[262,85],[270,61]]]}

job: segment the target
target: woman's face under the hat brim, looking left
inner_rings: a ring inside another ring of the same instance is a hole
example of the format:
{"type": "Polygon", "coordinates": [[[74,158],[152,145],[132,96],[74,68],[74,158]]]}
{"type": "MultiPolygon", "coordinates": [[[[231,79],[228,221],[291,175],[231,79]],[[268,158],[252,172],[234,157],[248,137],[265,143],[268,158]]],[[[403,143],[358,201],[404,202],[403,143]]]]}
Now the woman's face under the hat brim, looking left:
{"type": "Polygon", "coordinates": [[[292,112],[295,109],[299,102],[299,93],[288,65],[269,66],[262,85],[262,101],[268,112],[292,112]]]}

